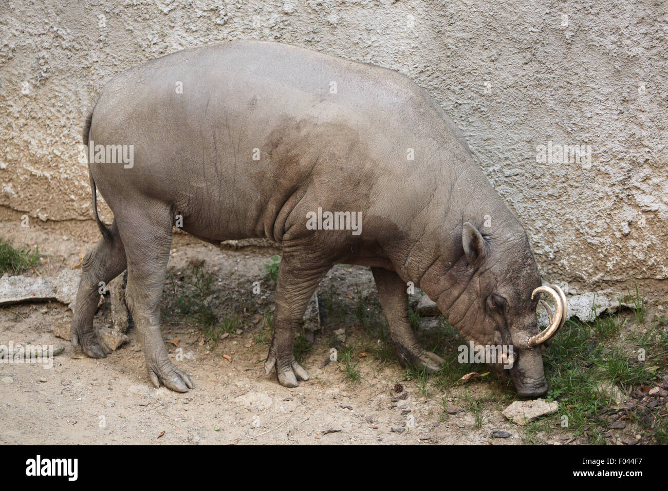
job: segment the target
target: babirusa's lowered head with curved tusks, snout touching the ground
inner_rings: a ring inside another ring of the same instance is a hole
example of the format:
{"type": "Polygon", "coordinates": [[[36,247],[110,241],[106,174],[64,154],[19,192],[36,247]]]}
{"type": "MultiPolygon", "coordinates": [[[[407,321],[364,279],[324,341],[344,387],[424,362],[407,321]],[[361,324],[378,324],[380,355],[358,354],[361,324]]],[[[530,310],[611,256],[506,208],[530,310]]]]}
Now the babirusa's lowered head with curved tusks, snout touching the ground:
{"type": "Polygon", "coordinates": [[[464,255],[456,265],[462,291],[439,307],[467,341],[485,347],[486,363],[502,379],[510,375],[519,395],[538,397],[547,391],[542,349],[566,319],[566,297],[556,285],[541,286],[526,232],[518,222],[512,230],[508,225],[484,235],[464,223],[464,255]],[[555,305],[552,312],[541,301],[550,317],[544,331],[536,316],[540,293],[555,305]]]}

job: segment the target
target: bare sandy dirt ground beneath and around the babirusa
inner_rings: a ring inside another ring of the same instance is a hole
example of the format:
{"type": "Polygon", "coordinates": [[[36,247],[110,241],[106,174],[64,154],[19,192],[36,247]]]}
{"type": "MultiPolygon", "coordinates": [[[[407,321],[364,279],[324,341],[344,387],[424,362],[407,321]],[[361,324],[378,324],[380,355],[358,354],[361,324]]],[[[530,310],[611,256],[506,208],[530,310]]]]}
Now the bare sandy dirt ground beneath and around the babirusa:
{"type": "MultiPolygon", "coordinates": [[[[15,222],[2,222],[0,234],[19,244],[23,240],[39,244],[45,259],[30,273],[45,276],[76,267],[81,254],[98,238],[90,222],[69,222],[58,229],[17,228],[15,222]]],[[[42,365],[0,365],[0,442],[522,443],[522,427],[508,422],[501,414],[508,402],[494,403],[498,381],[472,381],[447,392],[430,387],[426,392],[418,379],[407,379],[407,372],[395,361],[371,355],[359,357],[359,349],[353,349],[359,370],[357,382],[345,379],[341,363],[323,366],[335,339],[331,333],[334,329],[345,329],[343,343],[363,346],[359,341],[366,339],[363,327],[349,321],[346,315],[336,322],[330,319],[323,323],[325,332],[317,335],[303,363],[311,375],[309,381],[289,389],[277,383],[275,373],[265,375],[262,362],[268,345],[259,341],[265,321],[258,319],[271,311],[273,295],[265,281],[264,265],[279,252],[261,248],[220,250],[184,234],[175,236],[163,296],[166,321],[162,334],[172,359],[177,347],[186,353],[182,361],[175,363],[188,372],[196,385],[188,393],[150,385],[134,330],[128,334],[130,342],[106,359],[82,358],[75,355],[71,343],[53,335],[55,325],[69,325],[71,321],[67,306],[56,302],[23,303],[0,309],[0,344],[11,340],[15,344],[64,347],[51,369],[42,365]],[[217,347],[196,325],[170,315],[184,285],[192,279],[192,269],[200,263],[202,271],[214,278],[216,293],[212,303],[222,306],[223,311],[238,312],[242,321],[242,328],[220,339],[217,347]],[[261,281],[261,295],[253,295],[253,281],[261,281]],[[178,341],[169,343],[175,338],[178,341]],[[466,393],[486,398],[488,403],[482,413],[470,410],[465,403],[466,393]],[[446,405],[454,414],[444,412],[446,405]],[[510,436],[492,438],[492,432],[497,431],[510,436]]],[[[323,280],[319,291],[333,293],[340,309],[348,313],[355,310],[355,299],[362,291],[367,294],[365,308],[369,315],[374,314],[377,297],[368,269],[337,266],[323,280]]],[[[111,324],[108,307],[100,309],[95,323],[111,324]]],[[[373,344],[373,339],[364,342],[373,344]]],[[[456,355],[450,353],[452,357],[456,355]]],[[[549,436],[538,434],[535,438],[545,444],[573,440],[568,432],[558,429],[549,436]]]]}

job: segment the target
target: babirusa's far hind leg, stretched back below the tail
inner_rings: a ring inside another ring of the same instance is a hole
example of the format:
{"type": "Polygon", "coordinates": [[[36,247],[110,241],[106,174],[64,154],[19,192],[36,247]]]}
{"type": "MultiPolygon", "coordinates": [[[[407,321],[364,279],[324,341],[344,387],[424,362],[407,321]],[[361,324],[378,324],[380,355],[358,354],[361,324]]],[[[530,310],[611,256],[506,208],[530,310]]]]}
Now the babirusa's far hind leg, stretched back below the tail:
{"type": "Polygon", "coordinates": [[[111,350],[98,339],[93,329],[93,317],[100,300],[100,282],[107,285],[126,269],[123,242],[116,221],[110,228],[112,240],[104,237],[86,254],[81,265],[81,279],[71,323],[72,344],[81,347],[92,358],[104,358],[111,350]]]}

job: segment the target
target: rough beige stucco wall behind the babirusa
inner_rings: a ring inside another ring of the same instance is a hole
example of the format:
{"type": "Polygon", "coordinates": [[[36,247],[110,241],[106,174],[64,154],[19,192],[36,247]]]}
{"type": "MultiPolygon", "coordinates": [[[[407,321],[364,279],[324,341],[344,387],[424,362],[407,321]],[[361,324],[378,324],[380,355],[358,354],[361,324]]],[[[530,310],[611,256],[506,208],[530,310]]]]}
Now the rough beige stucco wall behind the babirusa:
{"type": "Polygon", "coordinates": [[[661,1],[0,0],[0,34],[0,205],[90,219],[77,144],[104,83],[178,49],[270,39],[425,88],[526,227],[548,279],[580,292],[622,292],[631,277],[647,279],[649,297],[668,290],[661,1]],[[591,162],[536,162],[548,140],[591,144],[591,162]]]}

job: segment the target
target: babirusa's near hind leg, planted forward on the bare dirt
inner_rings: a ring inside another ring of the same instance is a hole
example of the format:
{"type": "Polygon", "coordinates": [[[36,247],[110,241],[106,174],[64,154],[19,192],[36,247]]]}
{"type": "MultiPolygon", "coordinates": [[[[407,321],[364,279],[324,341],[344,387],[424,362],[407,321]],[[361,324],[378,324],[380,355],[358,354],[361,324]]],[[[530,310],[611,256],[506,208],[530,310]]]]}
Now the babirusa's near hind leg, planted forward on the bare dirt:
{"type": "Polygon", "coordinates": [[[153,385],[177,392],[193,389],[188,374],[169,359],[160,333],[160,298],[172,245],[172,210],[163,203],[125,208],[119,218],[120,235],[128,257],[126,302],[139,334],[146,369],[153,385]],[[131,217],[124,220],[124,217],[131,217]]]}

